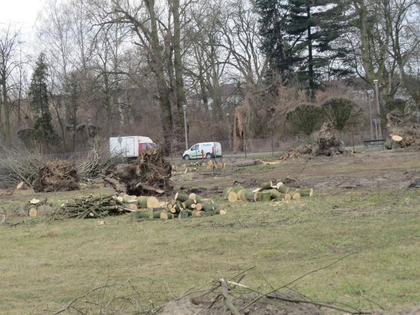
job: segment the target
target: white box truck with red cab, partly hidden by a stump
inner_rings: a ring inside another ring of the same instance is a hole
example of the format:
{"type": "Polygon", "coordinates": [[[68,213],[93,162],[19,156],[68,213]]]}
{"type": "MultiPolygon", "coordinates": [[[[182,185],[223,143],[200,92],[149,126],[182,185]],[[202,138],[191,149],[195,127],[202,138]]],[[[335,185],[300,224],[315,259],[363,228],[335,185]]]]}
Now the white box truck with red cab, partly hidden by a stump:
{"type": "Polygon", "coordinates": [[[118,136],[115,138],[109,138],[109,151],[111,155],[136,158],[142,151],[155,146],[156,144],[149,137],[118,136]]]}

